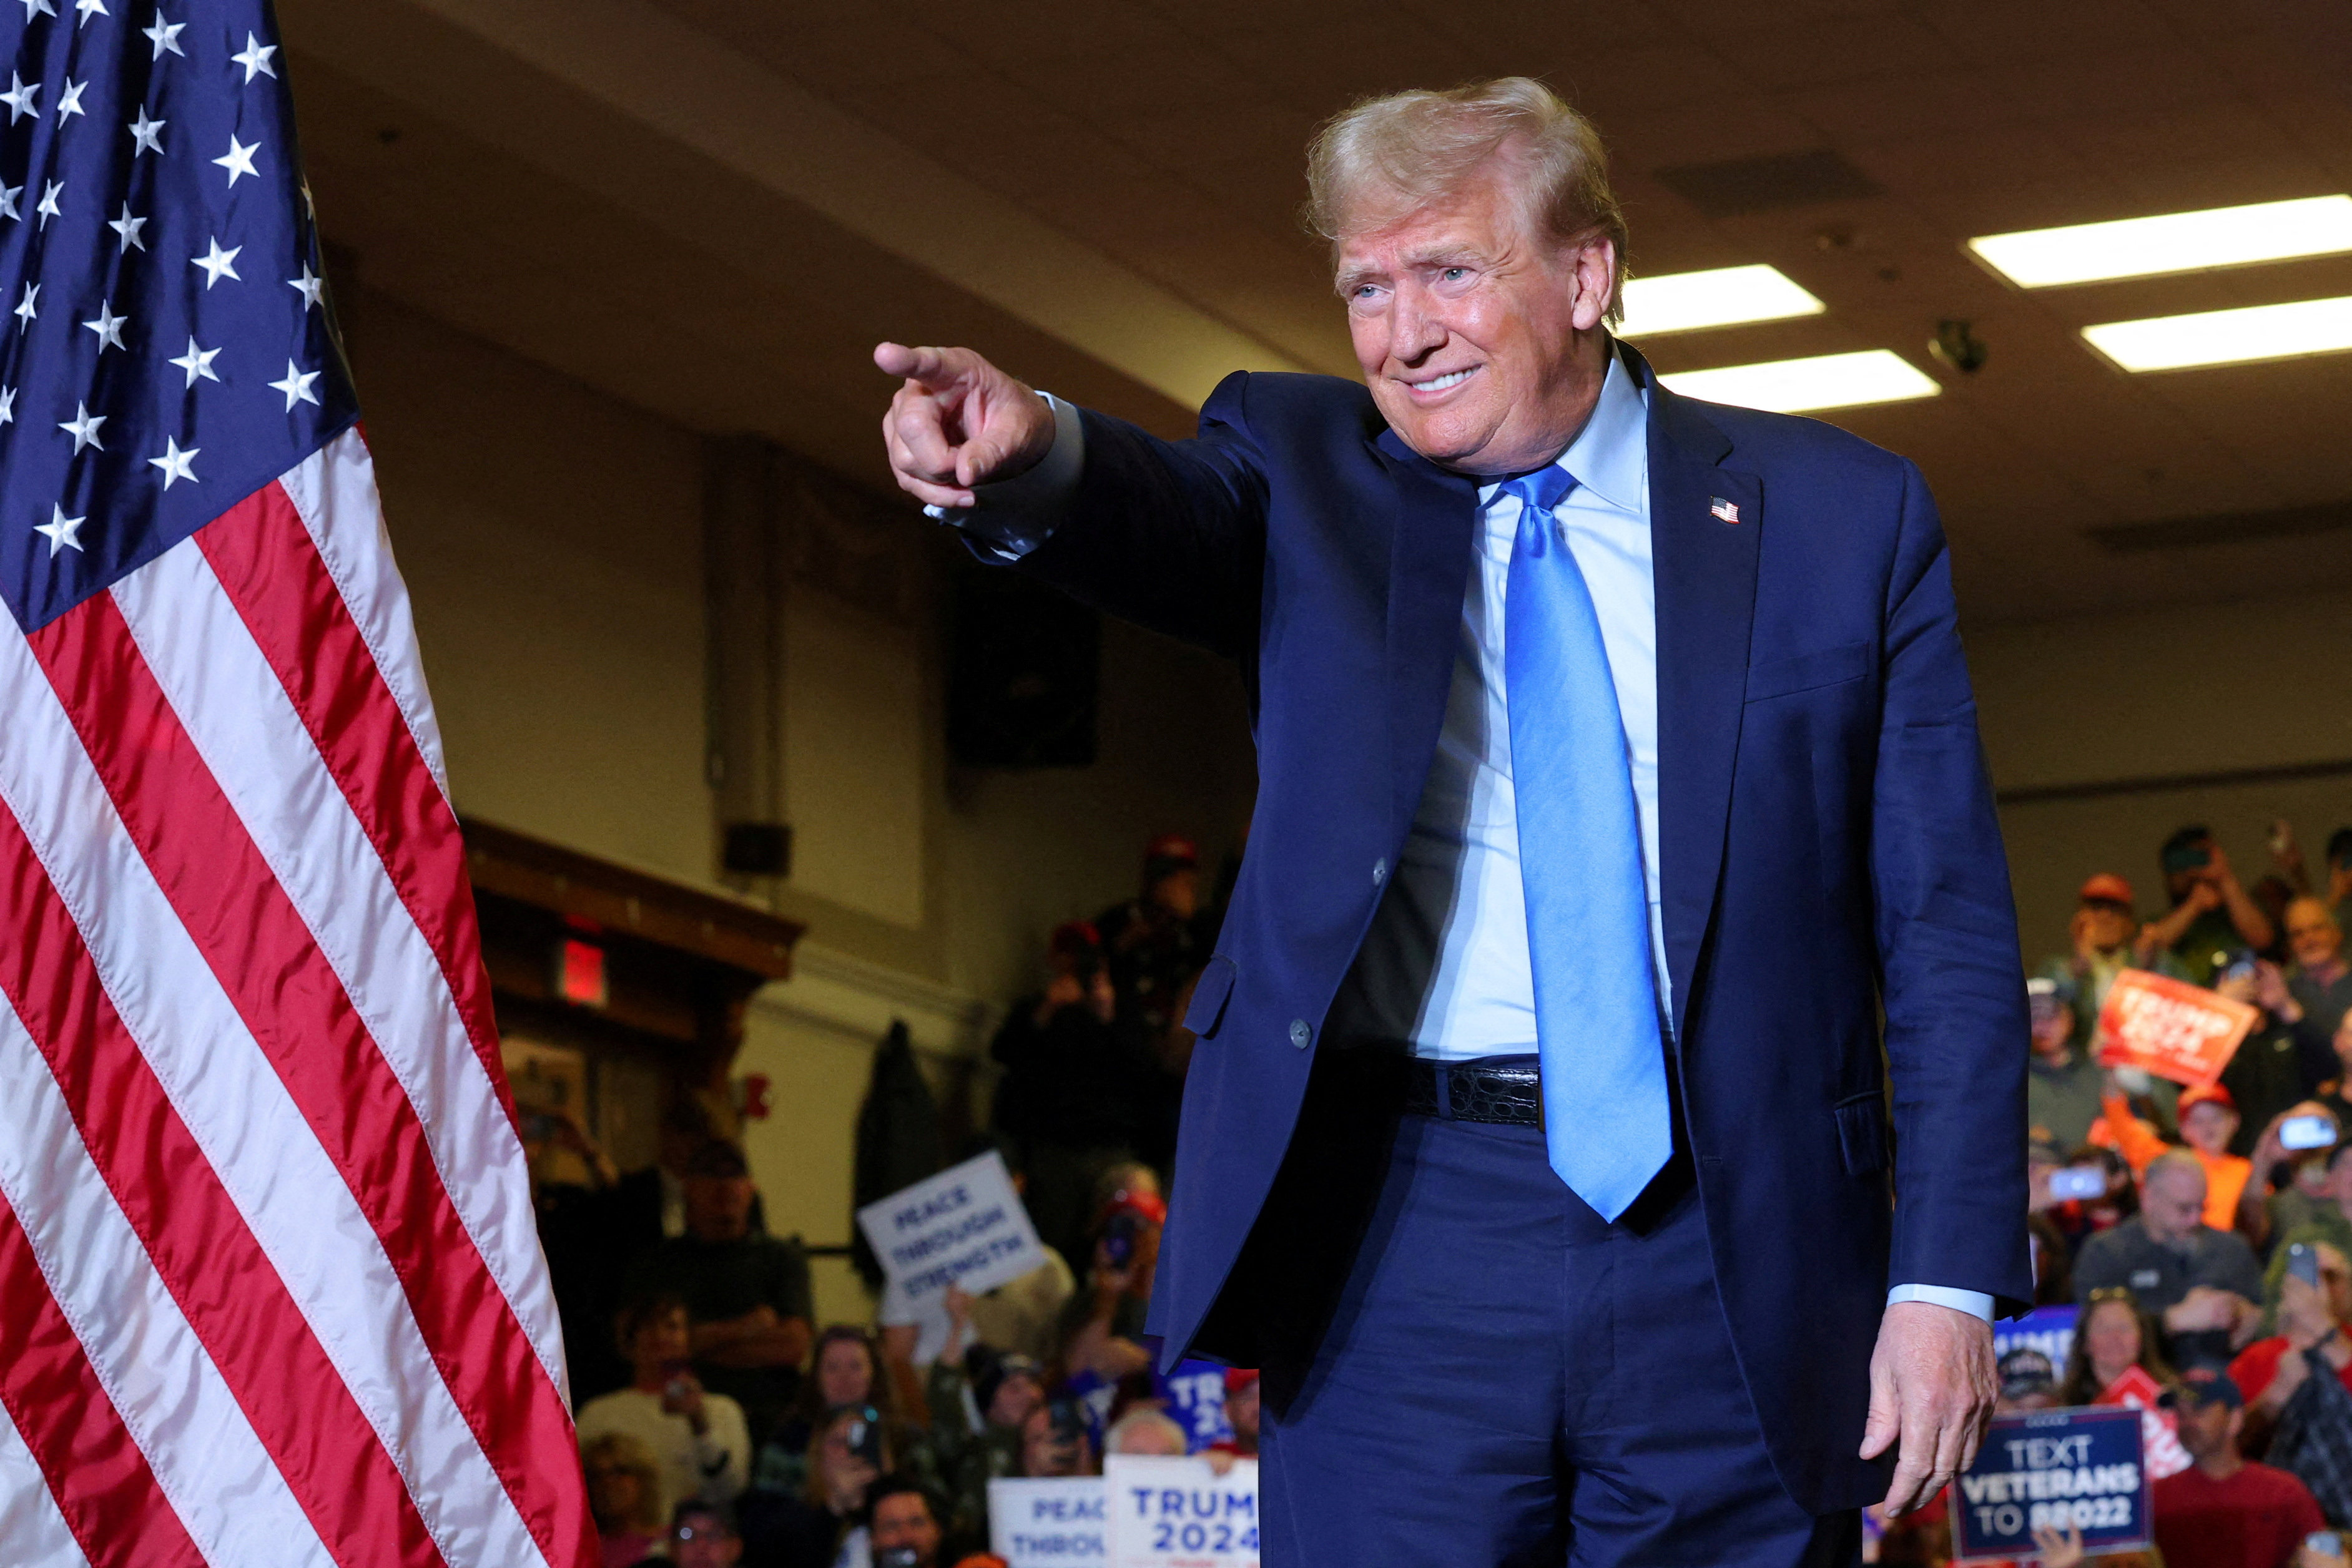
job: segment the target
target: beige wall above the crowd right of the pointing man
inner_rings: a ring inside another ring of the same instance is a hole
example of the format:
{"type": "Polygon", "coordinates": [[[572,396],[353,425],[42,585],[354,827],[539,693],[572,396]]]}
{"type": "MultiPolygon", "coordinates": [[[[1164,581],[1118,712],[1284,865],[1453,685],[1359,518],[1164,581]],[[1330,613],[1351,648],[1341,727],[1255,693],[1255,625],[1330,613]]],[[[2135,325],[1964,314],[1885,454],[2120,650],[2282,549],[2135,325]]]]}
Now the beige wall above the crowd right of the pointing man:
{"type": "MultiPolygon", "coordinates": [[[[1994,788],[2034,792],[2352,762],[2352,595],[2192,604],[1969,632],[1994,788]]],[[[2164,907],[2157,844],[2206,823],[2246,879],[2284,816],[2317,870],[2352,773],[2023,799],[2002,809],[2027,964],[2065,947],[2074,891],[2122,872],[2164,907]]]]}

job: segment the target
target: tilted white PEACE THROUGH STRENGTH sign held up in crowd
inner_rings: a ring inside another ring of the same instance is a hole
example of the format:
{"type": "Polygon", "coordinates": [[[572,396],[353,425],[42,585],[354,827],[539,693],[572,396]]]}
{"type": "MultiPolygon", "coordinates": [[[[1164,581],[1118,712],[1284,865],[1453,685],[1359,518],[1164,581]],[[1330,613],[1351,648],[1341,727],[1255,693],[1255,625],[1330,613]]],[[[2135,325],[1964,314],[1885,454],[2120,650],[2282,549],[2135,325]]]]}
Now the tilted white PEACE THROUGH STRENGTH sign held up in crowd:
{"type": "Polygon", "coordinates": [[[995,1150],[858,1211],[858,1229],[889,1276],[884,1324],[915,1321],[948,1286],[978,1295],[1021,1279],[1044,1248],[995,1150]],[[891,1312],[901,1316],[891,1316],[891,1312]]]}

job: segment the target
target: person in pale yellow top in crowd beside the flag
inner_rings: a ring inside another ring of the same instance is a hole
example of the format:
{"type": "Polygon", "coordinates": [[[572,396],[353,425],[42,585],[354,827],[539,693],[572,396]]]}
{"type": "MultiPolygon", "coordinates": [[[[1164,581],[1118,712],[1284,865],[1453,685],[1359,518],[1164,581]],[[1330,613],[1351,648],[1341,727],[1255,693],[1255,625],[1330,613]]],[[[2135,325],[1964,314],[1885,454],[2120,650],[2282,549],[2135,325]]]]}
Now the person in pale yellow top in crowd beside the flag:
{"type": "Polygon", "coordinates": [[[734,1502],[750,1481],[750,1434],[743,1406],[703,1392],[694,1375],[684,1298],[663,1293],[621,1307],[614,1338],[630,1385],[581,1406],[581,1441],[621,1432],[644,1443],[659,1467],[654,1519],[668,1519],[687,1497],[734,1502]]]}

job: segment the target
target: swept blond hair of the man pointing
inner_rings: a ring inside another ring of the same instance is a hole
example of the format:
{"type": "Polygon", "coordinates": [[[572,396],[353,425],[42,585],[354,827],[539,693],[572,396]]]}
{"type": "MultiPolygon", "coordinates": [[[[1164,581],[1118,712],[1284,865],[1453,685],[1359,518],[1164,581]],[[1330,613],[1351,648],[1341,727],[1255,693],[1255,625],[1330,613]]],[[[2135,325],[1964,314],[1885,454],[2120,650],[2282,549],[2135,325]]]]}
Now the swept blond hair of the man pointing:
{"type": "Polygon", "coordinates": [[[1602,134],[1526,75],[1449,92],[1392,92],[1334,115],[1308,146],[1305,221],[1334,252],[1348,233],[1456,195],[1494,160],[1531,235],[1616,244],[1606,320],[1625,315],[1625,212],[1609,190],[1602,134]]]}

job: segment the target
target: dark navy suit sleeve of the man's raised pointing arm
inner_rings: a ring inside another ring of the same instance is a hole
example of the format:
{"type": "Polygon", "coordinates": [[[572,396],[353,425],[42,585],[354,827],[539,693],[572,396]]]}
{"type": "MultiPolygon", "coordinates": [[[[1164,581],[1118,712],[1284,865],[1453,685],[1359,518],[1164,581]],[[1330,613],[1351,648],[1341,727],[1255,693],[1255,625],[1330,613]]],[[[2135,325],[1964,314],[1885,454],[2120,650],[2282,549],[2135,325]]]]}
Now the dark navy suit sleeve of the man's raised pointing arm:
{"type": "Polygon", "coordinates": [[[1265,569],[1265,465],[1247,395],[1247,371],[1225,376],[1190,442],[1084,411],[1077,496],[1021,569],[1122,621],[1247,658],[1265,569]]]}

